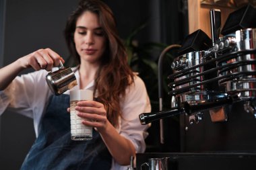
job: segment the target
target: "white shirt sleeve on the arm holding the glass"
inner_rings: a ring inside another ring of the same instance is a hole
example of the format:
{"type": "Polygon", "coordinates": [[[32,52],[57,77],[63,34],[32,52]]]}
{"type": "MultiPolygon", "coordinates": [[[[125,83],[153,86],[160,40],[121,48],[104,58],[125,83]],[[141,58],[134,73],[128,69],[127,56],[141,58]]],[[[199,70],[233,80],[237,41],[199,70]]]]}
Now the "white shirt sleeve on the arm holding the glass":
{"type": "Polygon", "coordinates": [[[139,114],[151,112],[151,105],[146,86],[139,77],[135,76],[135,82],[127,89],[121,107],[123,118],[121,118],[120,134],[131,140],[136,153],[143,153],[146,149],[144,139],[148,136],[146,130],[150,125],[141,125],[139,114]]]}

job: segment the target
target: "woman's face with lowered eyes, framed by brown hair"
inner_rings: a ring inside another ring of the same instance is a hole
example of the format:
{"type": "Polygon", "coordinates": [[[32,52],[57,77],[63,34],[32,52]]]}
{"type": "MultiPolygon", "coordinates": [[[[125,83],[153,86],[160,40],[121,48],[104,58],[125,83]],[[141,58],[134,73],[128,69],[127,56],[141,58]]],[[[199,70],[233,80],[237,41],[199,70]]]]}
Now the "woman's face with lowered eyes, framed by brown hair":
{"type": "Polygon", "coordinates": [[[81,64],[99,64],[106,49],[106,36],[100,26],[98,15],[85,11],[77,18],[74,42],[81,64]]]}

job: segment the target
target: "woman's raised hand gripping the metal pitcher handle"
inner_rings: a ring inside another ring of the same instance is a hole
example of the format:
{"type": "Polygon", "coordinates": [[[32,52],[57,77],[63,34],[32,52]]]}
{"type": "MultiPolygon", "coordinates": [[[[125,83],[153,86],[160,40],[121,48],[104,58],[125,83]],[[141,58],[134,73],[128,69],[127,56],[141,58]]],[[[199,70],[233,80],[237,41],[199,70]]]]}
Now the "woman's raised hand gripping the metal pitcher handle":
{"type": "Polygon", "coordinates": [[[46,69],[46,71],[51,71],[53,67],[57,67],[59,62],[65,62],[59,54],[51,50],[50,48],[36,50],[22,58],[19,58],[20,65],[26,69],[32,67],[34,70],[38,71],[40,69],[46,69]]]}

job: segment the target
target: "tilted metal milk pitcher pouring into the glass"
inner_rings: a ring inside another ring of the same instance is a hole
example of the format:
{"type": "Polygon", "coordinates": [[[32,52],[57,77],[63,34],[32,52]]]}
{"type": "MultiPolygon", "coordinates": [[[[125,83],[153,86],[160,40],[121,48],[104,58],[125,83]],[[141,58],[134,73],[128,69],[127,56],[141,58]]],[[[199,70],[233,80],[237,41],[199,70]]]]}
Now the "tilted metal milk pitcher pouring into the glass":
{"type": "Polygon", "coordinates": [[[57,71],[46,75],[47,85],[55,95],[60,95],[77,85],[75,74],[71,68],[64,67],[61,61],[60,65],[57,71]]]}

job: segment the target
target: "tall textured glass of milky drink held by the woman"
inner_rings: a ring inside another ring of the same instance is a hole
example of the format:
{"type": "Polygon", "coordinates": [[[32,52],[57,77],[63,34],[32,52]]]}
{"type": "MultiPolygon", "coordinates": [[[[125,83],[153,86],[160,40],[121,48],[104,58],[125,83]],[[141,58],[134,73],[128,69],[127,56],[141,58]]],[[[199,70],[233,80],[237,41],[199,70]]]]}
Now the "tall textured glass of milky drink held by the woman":
{"type": "Polygon", "coordinates": [[[93,91],[78,89],[70,91],[71,140],[92,139],[92,127],[82,124],[83,118],[77,116],[75,105],[78,101],[93,100],[93,91]]]}

